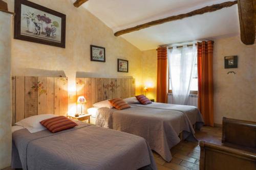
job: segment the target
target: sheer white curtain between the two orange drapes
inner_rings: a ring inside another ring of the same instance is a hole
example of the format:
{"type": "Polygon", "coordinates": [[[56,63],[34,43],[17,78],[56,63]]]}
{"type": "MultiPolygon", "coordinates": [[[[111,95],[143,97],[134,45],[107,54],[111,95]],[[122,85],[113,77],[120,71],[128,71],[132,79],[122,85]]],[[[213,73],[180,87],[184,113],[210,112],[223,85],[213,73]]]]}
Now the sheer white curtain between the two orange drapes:
{"type": "Polygon", "coordinates": [[[197,58],[196,44],[182,48],[173,46],[167,56],[173,104],[187,105],[197,58]]]}

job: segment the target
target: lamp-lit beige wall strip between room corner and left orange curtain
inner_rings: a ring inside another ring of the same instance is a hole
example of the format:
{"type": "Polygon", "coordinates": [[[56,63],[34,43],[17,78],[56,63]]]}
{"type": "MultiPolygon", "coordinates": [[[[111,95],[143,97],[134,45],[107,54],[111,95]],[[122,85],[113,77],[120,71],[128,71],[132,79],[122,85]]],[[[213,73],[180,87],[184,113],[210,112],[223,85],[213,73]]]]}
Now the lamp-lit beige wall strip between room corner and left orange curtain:
{"type": "Polygon", "coordinates": [[[157,51],[147,50],[142,52],[142,85],[148,87],[147,97],[157,98],[157,51]]]}

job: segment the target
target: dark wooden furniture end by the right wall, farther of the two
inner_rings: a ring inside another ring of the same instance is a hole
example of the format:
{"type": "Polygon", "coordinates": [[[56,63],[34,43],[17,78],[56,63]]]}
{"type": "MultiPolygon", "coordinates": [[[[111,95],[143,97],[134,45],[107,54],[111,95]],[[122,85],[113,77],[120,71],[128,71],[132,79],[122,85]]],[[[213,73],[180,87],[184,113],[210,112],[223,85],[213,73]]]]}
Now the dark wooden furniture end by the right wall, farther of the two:
{"type": "Polygon", "coordinates": [[[232,147],[246,147],[246,150],[256,150],[256,122],[223,117],[222,143],[232,147]],[[231,146],[230,145],[230,146],[231,146]]]}

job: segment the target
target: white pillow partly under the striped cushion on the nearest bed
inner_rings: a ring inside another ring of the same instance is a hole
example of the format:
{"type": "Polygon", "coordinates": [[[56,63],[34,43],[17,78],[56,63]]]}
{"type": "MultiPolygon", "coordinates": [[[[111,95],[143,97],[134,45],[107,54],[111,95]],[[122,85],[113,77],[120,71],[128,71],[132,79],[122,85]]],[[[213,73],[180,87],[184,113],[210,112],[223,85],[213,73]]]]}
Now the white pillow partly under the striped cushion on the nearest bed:
{"type": "Polygon", "coordinates": [[[20,120],[15,125],[26,128],[30,133],[39,132],[46,128],[40,124],[42,120],[55,117],[54,114],[39,114],[20,120]]]}

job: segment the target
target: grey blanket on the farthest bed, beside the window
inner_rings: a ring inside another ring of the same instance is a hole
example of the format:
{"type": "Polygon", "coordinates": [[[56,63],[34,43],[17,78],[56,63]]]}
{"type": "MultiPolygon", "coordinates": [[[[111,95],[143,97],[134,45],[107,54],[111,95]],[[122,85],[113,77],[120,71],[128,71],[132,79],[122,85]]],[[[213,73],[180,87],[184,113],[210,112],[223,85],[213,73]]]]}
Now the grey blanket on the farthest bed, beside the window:
{"type": "Polygon", "coordinates": [[[138,106],[138,107],[155,108],[155,109],[181,111],[187,115],[192,125],[196,125],[197,129],[200,130],[201,127],[204,125],[203,117],[199,109],[195,106],[175,105],[175,104],[156,103],[156,102],[152,102],[152,104],[148,104],[148,105],[131,104],[131,103],[129,103],[129,105],[138,106]]]}

